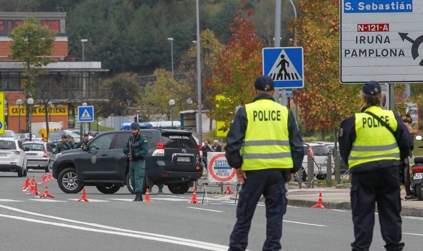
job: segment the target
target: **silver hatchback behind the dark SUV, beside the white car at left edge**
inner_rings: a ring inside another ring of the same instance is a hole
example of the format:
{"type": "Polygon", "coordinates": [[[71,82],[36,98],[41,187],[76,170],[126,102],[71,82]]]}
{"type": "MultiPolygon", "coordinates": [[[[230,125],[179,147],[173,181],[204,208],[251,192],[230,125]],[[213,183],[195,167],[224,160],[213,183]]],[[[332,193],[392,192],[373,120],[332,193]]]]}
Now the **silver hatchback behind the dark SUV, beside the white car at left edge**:
{"type": "Polygon", "coordinates": [[[43,141],[27,141],[22,145],[27,155],[28,168],[43,169],[48,173],[56,159],[51,146],[43,141]]]}

